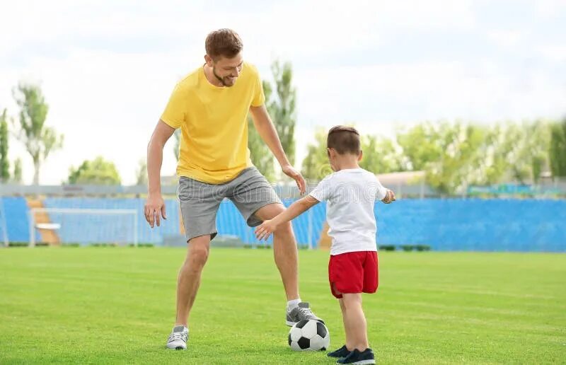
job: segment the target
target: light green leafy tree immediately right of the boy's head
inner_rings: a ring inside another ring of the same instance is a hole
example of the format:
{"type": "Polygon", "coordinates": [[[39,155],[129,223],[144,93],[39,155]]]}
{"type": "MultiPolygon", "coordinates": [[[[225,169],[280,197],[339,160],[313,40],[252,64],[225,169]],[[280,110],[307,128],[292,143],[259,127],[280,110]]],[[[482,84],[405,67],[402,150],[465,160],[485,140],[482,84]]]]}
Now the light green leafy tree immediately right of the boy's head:
{"type": "Polygon", "coordinates": [[[377,136],[362,137],[363,157],[359,166],[372,173],[393,173],[406,170],[403,155],[391,139],[377,136]]]}

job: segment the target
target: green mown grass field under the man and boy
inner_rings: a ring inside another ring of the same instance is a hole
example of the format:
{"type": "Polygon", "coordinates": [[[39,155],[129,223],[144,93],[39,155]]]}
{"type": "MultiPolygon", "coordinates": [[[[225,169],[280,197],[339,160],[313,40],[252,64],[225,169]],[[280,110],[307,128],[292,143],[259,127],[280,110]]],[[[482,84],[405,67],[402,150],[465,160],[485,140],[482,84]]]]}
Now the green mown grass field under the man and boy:
{"type": "MultiPolygon", "coordinates": [[[[271,250],[213,248],[187,351],[167,351],[182,249],[0,249],[0,363],[332,364],[287,346],[271,250]]],[[[299,253],[301,295],[344,342],[328,252],[299,253]]],[[[566,255],[380,254],[364,297],[379,362],[566,363],[566,255]]]]}

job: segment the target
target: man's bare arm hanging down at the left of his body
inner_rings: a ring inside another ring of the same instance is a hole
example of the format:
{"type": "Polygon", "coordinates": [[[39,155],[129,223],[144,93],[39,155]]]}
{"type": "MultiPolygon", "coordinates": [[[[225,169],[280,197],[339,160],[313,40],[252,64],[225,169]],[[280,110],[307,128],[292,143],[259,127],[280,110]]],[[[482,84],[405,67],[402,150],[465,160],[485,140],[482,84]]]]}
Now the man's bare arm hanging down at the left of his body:
{"type": "Polygon", "coordinates": [[[175,128],[159,120],[147,145],[148,192],[144,215],[151,228],[154,228],[154,224],[160,225],[161,217],[167,219],[165,202],[161,197],[161,164],[163,163],[163,146],[171,138],[173,132],[175,128]]]}

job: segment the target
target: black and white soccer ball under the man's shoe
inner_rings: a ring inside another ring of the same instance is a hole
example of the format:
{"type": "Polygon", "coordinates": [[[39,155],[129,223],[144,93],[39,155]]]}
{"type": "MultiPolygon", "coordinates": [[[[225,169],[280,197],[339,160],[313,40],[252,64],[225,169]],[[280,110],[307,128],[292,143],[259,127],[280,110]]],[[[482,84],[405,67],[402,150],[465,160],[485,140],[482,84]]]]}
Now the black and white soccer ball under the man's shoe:
{"type": "Polygon", "coordinates": [[[301,320],[289,330],[289,346],[294,351],[318,351],[330,347],[330,333],[318,320],[301,320]]]}

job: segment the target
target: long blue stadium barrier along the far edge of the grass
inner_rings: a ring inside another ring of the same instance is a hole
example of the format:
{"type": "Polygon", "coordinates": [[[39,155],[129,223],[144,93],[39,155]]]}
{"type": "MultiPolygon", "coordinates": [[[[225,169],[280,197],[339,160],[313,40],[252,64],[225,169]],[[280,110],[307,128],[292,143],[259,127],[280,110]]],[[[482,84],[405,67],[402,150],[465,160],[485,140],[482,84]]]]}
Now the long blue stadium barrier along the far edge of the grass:
{"type": "MultiPolygon", "coordinates": [[[[166,201],[168,220],[151,229],[143,215],[144,199],[48,198],[45,207],[81,209],[136,209],[139,243],[160,245],[165,235],[180,234],[178,202],[166,201]]],[[[285,200],[288,207],[292,200],[285,200]]],[[[28,207],[23,197],[2,197],[8,239],[29,241],[28,207]]],[[[292,222],[299,245],[317,247],[325,222],[325,203],[292,222]],[[311,228],[309,228],[309,226],[311,228]],[[309,236],[310,233],[310,236],[309,236]]],[[[407,199],[375,205],[380,245],[424,244],[433,250],[555,251],[566,252],[566,201],[541,199],[407,199]]],[[[56,216],[65,219],[59,237],[64,243],[103,243],[112,238],[133,238],[115,216],[56,216]],[[105,227],[100,229],[100,227],[105,227]]],[[[220,235],[238,236],[244,243],[255,239],[240,212],[228,199],[216,218],[220,235]]],[[[0,227],[1,229],[1,227],[0,227]]],[[[0,231],[0,234],[2,232],[0,231]]],[[[0,236],[1,237],[1,236],[0,236]]],[[[272,238],[267,241],[272,245],[272,238]]]]}

